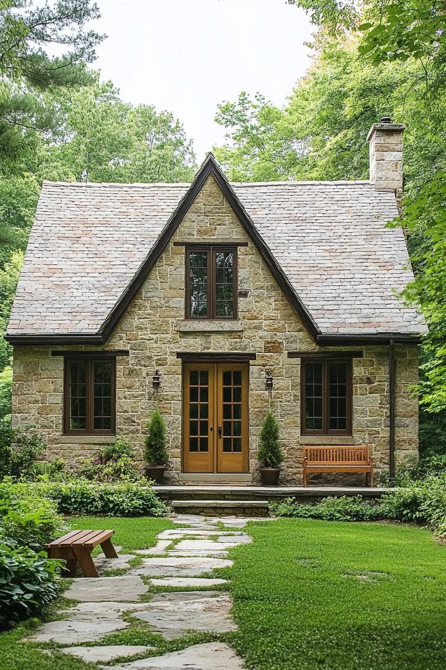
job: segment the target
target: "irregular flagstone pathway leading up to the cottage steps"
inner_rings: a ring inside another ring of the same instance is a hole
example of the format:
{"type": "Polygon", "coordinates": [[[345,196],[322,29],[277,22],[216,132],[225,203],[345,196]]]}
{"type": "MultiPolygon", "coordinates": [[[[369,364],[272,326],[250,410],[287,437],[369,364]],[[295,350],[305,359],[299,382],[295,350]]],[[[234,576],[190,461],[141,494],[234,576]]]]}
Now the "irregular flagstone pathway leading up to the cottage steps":
{"type": "Polygon", "coordinates": [[[209,667],[241,670],[240,657],[223,642],[193,645],[162,655],[156,655],[159,650],[149,645],[98,643],[108,634],[128,628],[132,619],[146,622],[151,632],[166,641],[193,632],[219,634],[237,630],[230,616],[229,593],[213,590],[225,584],[225,580],[202,575],[217,567],[232,565],[228,550],[251,542],[251,537],[242,530],[247,521],[256,519],[179,515],[174,519],[177,527],[162,531],[154,547],[120,554],[118,559],[97,557],[95,562],[101,575],[116,567],[126,569],[125,575],[74,580],[64,595],[78,604],[62,611],[61,620],[43,624],[29,640],[64,645],[58,648],[59,652],[96,663],[104,670],[209,670],[209,667]],[[219,521],[223,521],[225,530],[221,530],[219,521]],[[135,556],[140,564],[130,567],[129,561],[135,556]],[[148,583],[169,590],[143,602],[141,598],[148,592],[148,583]],[[195,590],[182,591],[184,588],[195,590]],[[128,614],[131,614],[130,620],[128,614]],[[96,644],[88,646],[88,643],[96,644]],[[128,661],[122,662],[126,658],[128,661]],[[101,665],[113,663],[114,659],[119,659],[117,665],[101,665]]]}

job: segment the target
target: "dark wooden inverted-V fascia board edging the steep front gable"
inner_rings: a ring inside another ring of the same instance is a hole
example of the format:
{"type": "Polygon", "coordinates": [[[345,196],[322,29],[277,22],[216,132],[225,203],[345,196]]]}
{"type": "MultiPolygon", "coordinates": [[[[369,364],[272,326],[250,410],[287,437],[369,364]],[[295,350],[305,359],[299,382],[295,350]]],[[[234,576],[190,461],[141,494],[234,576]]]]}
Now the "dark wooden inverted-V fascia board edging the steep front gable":
{"type": "MultiPolygon", "coordinates": [[[[231,206],[234,214],[237,216],[241,225],[243,226],[243,229],[245,232],[247,232],[247,235],[253,241],[257,251],[259,251],[263,261],[265,261],[267,267],[271,271],[271,274],[279,284],[282,291],[285,293],[290,304],[299,314],[302,322],[304,323],[304,326],[312,338],[316,340],[319,330],[316,326],[316,323],[312,319],[312,316],[310,316],[310,312],[308,312],[307,308],[296,294],[296,291],[294,291],[294,288],[282,270],[282,267],[280,267],[279,263],[277,263],[273,257],[273,254],[271,253],[271,250],[265,244],[261,235],[259,235],[259,232],[255,228],[255,225],[253,224],[249,214],[247,214],[245,208],[235,194],[235,191],[233,188],[231,188],[227,178],[223,172],[221,172],[217,161],[213,155],[209,153],[199,172],[197,172],[197,176],[192,182],[191,188],[189,188],[189,191],[179,202],[175,212],[173,212],[171,218],[169,218],[169,221],[160,232],[158,239],[154,243],[154,246],[148,253],[146,259],[140,265],[134,277],[131,279],[130,283],[118,299],[118,302],[116,302],[114,308],[111,310],[110,314],[108,314],[108,317],[98,330],[98,334],[102,335],[104,342],[107,340],[110,334],[112,334],[112,331],[118,324],[120,318],[124,315],[124,312],[128,308],[131,300],[142,287],[142,284],[146,280],[148,273],[154,267],[156,261],[158,261],[162,251],[164,251],[167,243],[169,243],[169,240],[175,233],[175,230],[177,230],[179,224],[183,220],[183,217],[189,210],[189,207],[203,188],[207,178],[211,175],[221,188],[221,191],[223,192],[223,195],[225,196],[229,206],[231,206]]],[[[205,243],[209,244],[209,241],[203,240],[203,244],[205,243]]]]}

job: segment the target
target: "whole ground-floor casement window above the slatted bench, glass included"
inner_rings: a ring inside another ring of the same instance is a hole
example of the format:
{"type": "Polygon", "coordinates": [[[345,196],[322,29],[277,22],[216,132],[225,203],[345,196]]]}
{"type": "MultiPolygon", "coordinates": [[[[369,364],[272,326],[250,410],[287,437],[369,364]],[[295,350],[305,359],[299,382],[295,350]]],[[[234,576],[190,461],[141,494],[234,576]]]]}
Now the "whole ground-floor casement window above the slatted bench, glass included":
{"type": "Polygon", "coordinates": [[[352,359],[302,359],[302,435],[352,434],[352,359]]]}

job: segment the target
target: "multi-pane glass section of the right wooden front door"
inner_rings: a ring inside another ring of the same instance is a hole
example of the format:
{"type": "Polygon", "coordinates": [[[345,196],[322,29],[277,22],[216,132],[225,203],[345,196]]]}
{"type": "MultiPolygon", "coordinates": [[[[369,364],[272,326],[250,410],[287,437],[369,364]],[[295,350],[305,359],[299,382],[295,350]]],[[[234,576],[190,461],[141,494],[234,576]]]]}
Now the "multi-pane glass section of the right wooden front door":
{"type": "Polygon", "coordinates": [[[223,383],[223,452],[241,452],[241,371],[225,371],[223,383]]]}

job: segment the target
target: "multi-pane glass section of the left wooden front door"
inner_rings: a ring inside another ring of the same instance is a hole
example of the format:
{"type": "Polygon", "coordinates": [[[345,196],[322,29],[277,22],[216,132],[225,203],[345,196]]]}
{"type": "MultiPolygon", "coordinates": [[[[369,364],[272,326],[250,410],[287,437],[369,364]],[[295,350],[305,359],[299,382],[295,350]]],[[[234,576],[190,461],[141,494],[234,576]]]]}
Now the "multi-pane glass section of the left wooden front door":
{"type": "Polygon", "coordinates": [[[209,371],[189,372],[189,451],[209,450],[209,371]],[[200,420],[198,420],[200,419],[200,420]]]}

